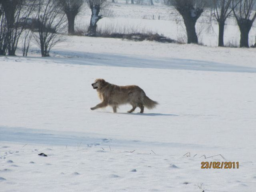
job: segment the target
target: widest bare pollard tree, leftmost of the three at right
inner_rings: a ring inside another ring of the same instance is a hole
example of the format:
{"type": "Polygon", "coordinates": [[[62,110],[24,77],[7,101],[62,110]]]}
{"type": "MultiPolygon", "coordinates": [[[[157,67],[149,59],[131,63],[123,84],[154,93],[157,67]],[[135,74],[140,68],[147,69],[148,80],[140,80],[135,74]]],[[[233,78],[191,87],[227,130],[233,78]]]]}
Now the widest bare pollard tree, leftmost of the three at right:
{"type": "Polygon", "coordinates": [[[197,19],[204,12],[207,0],[169,0],[169,5],[173,5],[181,14],[187,31],[187,43],[198,43],[195,25],[197,19]]]}

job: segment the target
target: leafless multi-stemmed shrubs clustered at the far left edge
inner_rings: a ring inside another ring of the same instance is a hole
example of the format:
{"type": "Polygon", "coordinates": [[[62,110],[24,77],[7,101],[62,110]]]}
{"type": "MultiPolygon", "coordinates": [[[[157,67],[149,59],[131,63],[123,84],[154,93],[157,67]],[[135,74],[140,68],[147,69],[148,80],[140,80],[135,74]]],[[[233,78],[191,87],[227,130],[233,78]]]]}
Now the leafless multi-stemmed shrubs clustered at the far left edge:
{"type": "Polygon", "coordinates": [[[21,34],[26,30],[24,50],[27,53],[31,30],[38,32],[34,34],[34,39],[41,48],[42,56],[49,56],[51,47],[60,39],[56,39],[60,26],[64,26],[64,14],[54,2],[0,0],[0,55],[15,55],[21,34]]]}

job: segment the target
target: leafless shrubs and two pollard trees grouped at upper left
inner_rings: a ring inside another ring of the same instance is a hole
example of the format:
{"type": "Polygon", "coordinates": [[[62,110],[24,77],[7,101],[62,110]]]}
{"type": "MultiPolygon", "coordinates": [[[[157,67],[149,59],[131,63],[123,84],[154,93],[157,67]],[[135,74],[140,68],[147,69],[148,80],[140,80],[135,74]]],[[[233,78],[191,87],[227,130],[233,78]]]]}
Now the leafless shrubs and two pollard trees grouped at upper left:
{"type": "MultiPolygon", "coordinates": [[[[85,0],[92,10],[88,34],[95,36],[97,21],[106,0],[85,0]]],[[[68,23],[73,34],[74,22],[84,0],[0,0],[0,55],[15,55],[21,34],[24,33],[23,55],[28,52],[32,39],[40,47],[43,57],[65,36],[61,36],[68,23]],[[66,15],[66,19],[65,19],[66,15]],[[31,33],[31,31],[36,33],[31,33]]]]}

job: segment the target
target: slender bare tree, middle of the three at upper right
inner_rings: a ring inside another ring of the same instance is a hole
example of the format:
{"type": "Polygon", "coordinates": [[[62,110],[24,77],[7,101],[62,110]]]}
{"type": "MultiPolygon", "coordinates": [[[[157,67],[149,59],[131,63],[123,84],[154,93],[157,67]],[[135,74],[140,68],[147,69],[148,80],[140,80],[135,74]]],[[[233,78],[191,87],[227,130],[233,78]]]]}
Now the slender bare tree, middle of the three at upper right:
{"type": "Polygon", "coordinates": [[[214,17],[219,25],[218,46],[224,47],[224,26],[225,21],[232,12],[230,7],[232,0],[213,0],[214,17]]]}

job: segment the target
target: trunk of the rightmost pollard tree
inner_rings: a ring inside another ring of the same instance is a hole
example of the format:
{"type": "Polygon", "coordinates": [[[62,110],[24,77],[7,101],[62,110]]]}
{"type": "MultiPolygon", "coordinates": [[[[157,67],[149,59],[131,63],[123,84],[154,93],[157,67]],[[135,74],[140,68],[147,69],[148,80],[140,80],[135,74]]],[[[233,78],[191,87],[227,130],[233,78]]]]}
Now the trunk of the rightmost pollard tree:
{"type": "Polygon", "coordinates": [[[251,30],[251,20],[239,20],[238,26],[240,29],[240,47],[249,47],[249,32],[251,30]]]}

